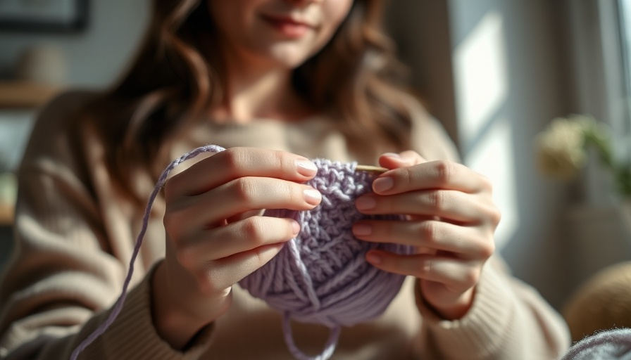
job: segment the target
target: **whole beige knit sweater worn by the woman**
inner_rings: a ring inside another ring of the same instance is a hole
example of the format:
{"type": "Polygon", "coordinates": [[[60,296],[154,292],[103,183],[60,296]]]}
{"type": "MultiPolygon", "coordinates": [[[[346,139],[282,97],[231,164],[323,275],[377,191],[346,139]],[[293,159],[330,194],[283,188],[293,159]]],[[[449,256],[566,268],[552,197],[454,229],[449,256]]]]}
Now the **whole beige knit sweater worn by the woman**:
{"type": "MultiPolygon", "coordinates": [[[[142,211],[111,186],[104,152],[89,131],[70,126],[89,94],[65,94],[39,117],[19,172],[15,252],[0,285],[0,357],[68,359],[104,322],[127,273],[142,211]],[[78,131],[77,131],[78,130],[78,131]],[[74,135],[72,135],[74,134],[74,135]]],[[[425,158],[456,159],[441,127],[420,108],[413,128],[425,158]]],[[[288,150],[308,158],[374,164],[382,150],[366,139],[351,144],[325,119],[280,124],[200,124],[173,148],[173,158],[206,143],[288,150]]],[[[166,165],[166,164],[164,164],[166,165]]],[[[185,167],[186,165],[181,165],[185,167]]],[[[217,169],[220,171],[220,169],[217,169]]],[[[138,174],[149,195],[154,184],[138,174]]],[[[158,198],[135,263],[123,311],[82,359],[292,359],[280,315],[235,285],[228,313],[182,353],[157,335],[151,321],[152,271],[164,252],[158,198]]],[[[537,292],[492,259],[463,319],[445,321],[415,301],[408,278],[385,314],[343,328],[334,359],[554,359],[570,345],[566,324],[537,292]]],[[[296,344],[318,354],[327,329],[293,324],[296,344]]]]}

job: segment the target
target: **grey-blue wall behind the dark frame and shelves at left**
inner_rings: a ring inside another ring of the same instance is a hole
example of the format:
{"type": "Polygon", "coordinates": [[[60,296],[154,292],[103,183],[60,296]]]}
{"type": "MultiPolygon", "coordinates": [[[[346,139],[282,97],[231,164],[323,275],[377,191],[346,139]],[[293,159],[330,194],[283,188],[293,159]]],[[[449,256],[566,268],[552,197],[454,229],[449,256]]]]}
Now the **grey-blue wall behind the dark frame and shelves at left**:
{"type": "MultiPolygon", "coordinates": [[[[92,0],[87,29],[77,34],[0,32],[0,79],[11,79],[15,62],[31,46],[54,44],[68,60],[68,86],[100,88],[123,70],[142,38],[148,0],[92,0]]],[[[14,169],[37,110],[0,109],[0,171],[14,169]]],[[[0,267],[11,250],[11,228],[0,226],[0,267]]]]}

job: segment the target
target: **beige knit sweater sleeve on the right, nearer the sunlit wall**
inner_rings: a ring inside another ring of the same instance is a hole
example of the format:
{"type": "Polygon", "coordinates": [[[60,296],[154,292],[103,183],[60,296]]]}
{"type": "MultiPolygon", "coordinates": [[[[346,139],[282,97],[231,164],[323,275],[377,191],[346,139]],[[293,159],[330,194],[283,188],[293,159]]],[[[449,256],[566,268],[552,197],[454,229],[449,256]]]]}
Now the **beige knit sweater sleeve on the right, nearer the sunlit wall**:
{"type": "MultiPolygon", "coordinates": [[[[411,104],[413,143],[427,160],[460,161],[437,120],[411,104]]],[[[482,269],[473,306],[456,321],[427,306],[416,285],[423,316],[416,352],[420,359],[556,359],[570,346],[568,327],[537,290],[511,275],[499,254],[482,269]]]]}

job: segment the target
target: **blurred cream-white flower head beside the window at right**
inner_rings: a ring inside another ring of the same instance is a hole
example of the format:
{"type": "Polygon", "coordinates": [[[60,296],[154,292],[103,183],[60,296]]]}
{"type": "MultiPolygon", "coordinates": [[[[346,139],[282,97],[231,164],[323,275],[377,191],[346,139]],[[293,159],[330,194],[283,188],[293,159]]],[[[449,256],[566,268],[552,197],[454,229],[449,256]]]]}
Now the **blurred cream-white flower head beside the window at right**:
{"type": "Polygon", "coordinates": [[[544,173],[571,179],[585,166],[585,131],[593,129],[595,120],[584,115],[557,117],[535,139],[537,166],[544,173]]]}

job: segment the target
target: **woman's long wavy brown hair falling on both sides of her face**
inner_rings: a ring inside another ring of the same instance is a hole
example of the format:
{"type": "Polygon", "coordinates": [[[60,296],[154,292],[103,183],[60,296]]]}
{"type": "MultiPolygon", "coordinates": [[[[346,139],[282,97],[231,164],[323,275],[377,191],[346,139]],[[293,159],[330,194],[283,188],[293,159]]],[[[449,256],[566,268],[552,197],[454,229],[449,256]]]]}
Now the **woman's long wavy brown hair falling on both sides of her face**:
{"type": "MultiPolygon", "coordinates": [[[[294,86],[314,108],[338,118],[346,136],[408,146],[401,65],[382,32],[382,0],[356,0],[332,40],[294,70],[294,86]],[[368,134],[368,135],[367,135],[368,134]]],[[[132,195],[130,172],[164,165],[174,134],[222,101],[220,61],[202,0],[154,0],[153,17],[129,70],[86,109],[103,136],[106,165],[132,195]]]]}

